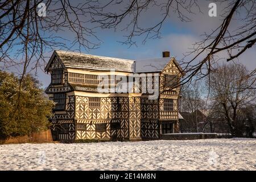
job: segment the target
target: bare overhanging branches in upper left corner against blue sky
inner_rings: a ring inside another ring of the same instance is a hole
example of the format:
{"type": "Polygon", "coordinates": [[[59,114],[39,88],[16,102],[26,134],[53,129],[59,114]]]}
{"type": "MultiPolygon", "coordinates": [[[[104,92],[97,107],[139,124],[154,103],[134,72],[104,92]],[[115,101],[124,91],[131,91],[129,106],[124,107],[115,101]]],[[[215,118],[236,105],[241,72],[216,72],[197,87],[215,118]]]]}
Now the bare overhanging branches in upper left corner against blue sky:
{"type": "MultiPolygon", "coordinates": [[[[89,3],[86,2],[86,3],[89,3]]],[[[6,0],[0,3],[0,63],[2,68],[23,65],[37,69],[46,61],[44,51],[77,46],[93,49],[99,45],[92,26],[85,26],[86,3],[69,1],[6,0]],[[40,3],[46,4],[46,16],[39,16],[40,3]],[[65,32],[65,36],[63,36],[65,32]],[[67,39],[67,35],[71,36],[67,39]],[[62,36],[61,36],[62,35],[62,36]],[[90,39],[89,39],[90,37],[90,39]],[[94,42],[91,40],[94,38],[94,42]],[[68,42],[68,40],[71,40],[68,42]],[[70,45],[70,46],[69,46],[70,45]]],[[[73,49],[76,49],[73,48],[73,49]]]]}

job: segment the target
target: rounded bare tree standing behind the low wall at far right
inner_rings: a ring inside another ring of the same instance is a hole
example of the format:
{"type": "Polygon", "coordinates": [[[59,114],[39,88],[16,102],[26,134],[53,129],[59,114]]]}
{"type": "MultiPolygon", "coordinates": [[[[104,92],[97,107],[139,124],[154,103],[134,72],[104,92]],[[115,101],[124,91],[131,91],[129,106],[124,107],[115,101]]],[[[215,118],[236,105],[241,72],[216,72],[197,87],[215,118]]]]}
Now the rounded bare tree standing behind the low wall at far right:
{"type": "Polygon", "coordinates": [[[219,105],[233,137],[242,135],[238,113],[255,101],[256,77],[242,64],[217,65],[208,80],[210,98],[219,105]]]}

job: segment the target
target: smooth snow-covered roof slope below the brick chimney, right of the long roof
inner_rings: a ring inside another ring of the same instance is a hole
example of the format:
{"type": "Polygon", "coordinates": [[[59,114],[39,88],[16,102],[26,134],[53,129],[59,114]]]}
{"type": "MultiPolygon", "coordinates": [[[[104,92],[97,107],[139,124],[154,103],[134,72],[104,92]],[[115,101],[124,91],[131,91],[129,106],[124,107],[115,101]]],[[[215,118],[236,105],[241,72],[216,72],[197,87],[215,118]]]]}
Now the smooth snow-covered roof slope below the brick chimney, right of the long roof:
{"type": "Polygon", "coordinates": [[[162,57],[155,59],[136,60],[135,72],[147,73],[147,72],[160,72],[170,62],[171,57],[162,57]]]}

